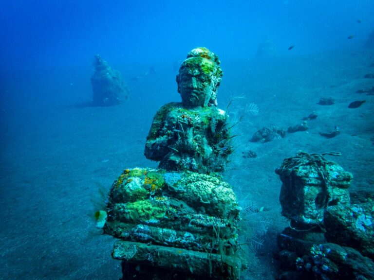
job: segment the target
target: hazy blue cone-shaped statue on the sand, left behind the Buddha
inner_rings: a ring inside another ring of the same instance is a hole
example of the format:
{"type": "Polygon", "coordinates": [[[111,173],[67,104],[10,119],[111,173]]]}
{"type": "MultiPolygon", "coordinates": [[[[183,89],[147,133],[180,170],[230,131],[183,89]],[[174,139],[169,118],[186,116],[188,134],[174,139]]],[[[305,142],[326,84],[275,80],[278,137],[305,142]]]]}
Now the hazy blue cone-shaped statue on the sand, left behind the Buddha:
{"type": "Polygon", "coordinates": [[[91,77],[93,105],[112,106],[129,99],[129,89],[117,70],[112,70],[100,55],[95,55],[91,77]]]}

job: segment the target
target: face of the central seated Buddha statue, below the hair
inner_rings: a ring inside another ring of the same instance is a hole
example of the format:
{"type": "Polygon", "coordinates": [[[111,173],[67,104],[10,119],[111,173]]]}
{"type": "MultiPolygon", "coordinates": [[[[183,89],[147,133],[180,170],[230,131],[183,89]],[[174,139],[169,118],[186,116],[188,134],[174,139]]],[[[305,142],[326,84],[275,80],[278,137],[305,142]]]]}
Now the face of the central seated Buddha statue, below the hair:
{"type": "Polygon", "coordinates": [[[210,99],[210,78],[199,71],[181,71],[177,76],[178,92],[186,106],[205,106],[210,99]]]}

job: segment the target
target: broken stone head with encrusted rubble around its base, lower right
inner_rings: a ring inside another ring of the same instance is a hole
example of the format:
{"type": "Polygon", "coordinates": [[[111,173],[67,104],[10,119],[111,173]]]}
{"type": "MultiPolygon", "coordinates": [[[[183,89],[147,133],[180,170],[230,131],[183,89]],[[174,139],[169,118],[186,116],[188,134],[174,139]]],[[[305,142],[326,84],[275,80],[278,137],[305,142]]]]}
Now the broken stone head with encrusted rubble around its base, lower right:
{"type": "Polygon", "coordinates": [[[299,151],[283,160],[277,279],[374,279],[374,203],[352,199],[352,174],[322,155],[299,151]]]}

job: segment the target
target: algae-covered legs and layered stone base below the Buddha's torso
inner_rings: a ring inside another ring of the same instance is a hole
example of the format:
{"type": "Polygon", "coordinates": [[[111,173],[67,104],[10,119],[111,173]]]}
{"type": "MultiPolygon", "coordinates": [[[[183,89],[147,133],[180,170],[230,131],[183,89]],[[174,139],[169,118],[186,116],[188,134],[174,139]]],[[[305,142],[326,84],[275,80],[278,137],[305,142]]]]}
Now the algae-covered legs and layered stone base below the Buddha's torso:
{"type": "Polygon", "coordinates": [[[104,232],[112,256],[205,279],[238,279],[239,207],[219,176],[126,169],[113,183],[104,232]]]}

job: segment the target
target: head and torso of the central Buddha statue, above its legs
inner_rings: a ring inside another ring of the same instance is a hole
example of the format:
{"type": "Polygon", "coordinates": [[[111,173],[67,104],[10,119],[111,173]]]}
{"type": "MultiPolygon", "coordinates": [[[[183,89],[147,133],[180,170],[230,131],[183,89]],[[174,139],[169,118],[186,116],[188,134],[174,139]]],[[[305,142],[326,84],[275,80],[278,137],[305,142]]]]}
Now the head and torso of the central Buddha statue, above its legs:
{"type": "Polygon", "coordinates": [[[147,137],[147,158],[169,170],[224,170],[232,145],[227,116],[217,108],[222,75],[214,53],[206,48],[188,53],[176,79],[182,102],[168,103],[157,111],[147,137]]]}

